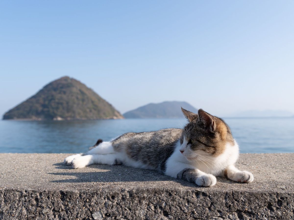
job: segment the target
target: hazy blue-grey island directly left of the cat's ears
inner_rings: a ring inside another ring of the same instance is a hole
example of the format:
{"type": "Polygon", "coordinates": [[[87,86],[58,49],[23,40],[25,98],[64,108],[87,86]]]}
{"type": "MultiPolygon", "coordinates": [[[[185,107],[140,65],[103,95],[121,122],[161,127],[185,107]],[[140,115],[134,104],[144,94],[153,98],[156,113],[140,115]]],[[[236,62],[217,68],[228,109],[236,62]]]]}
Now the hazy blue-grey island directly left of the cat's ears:
{"type": "Polygon", "coordinates": [[[125,118],[184,118],[181,107],[188,111],[198,112],[198,109],[185,101],[164,101],[150,103],[123,114],[125,118]]]}

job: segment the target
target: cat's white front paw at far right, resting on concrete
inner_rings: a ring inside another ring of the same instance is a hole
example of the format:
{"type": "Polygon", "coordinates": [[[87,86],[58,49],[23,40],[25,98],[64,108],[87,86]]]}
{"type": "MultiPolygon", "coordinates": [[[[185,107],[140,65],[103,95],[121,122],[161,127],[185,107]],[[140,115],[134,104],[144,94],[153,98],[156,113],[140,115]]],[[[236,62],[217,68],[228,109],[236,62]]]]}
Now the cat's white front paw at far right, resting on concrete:
{"type": "Polygon", "coordinates": [[[234,165],[229,165],[223,170],[223,176],[235,182],[249,183],[252,182],[253,174],[248,171],[240,171],[234,165]]]}

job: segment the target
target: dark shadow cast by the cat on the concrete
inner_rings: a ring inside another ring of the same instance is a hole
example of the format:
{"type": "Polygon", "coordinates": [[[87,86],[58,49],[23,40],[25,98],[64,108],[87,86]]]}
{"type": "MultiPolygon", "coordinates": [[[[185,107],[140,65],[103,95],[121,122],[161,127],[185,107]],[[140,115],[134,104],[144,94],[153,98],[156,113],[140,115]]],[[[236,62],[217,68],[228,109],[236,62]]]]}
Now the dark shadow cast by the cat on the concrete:
{"type": "MultiPolygon", "coordinates": [[[[49,173],[51,175],[61,176],[61,180],[53,180],[51,182],[146,182],[146,181],[173,181],[178,182],[183,186],[198,187],[196,184],[189,183],[184,180],[168,177],[154,170],[144,170],[133,167],[126,167],[123,165],[101,165],[95,164],[90,165],[86,168],[72,169],[71,166],[65,165],[64,163],[56,163],[56,169],[64,170],[64,172],[49,173]],[[95,171],[91,172],[95,169],[95,171]],[[85,172],[82,172],[85,169],[85,172]],[[68,176],[75,176],[75,179],[67,179],[68,176]],[[64,177],[64,178],[62,178],[64,177]]],[[[222,177],[217,177],[217,181],[223,183],[233,183],[222,177]]]]}

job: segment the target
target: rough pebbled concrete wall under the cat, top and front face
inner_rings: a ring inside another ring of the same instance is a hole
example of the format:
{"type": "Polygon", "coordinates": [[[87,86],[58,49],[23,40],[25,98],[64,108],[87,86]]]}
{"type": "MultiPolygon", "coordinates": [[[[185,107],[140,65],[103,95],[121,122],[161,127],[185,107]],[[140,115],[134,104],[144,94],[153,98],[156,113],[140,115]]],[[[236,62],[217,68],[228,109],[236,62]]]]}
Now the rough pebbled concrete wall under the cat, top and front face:
{"type": "Polygon", "coordinates": [[[255,180],[204,188],[152,170],[70,154],[0,154],[0,219],[294,219],[294,153],[241,154],[255,180]]]}

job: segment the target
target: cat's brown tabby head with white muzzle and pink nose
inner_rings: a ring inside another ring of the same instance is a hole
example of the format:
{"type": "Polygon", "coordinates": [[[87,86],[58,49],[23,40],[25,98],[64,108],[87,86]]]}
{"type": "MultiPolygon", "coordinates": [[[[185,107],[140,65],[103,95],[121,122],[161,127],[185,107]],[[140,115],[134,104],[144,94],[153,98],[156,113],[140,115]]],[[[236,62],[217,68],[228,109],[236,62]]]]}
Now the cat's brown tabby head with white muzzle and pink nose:
{"type": "Polygon", "coordinates": [[[227,143],[234,144],[230,128],[222,119],[202,109],[198,114],[183,108],[182,111],[189,122],[183,129],[180,151],[188,160],[217,157],[227,143]]]}

